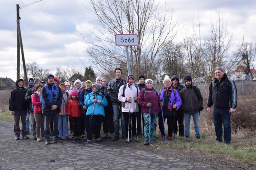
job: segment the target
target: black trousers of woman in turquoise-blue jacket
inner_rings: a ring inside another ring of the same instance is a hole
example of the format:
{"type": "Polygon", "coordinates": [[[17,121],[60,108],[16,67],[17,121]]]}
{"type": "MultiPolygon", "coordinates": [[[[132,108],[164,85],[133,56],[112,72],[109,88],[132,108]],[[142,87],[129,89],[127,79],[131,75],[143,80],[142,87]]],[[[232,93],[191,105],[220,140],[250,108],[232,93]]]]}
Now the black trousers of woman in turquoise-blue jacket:
{"type": "Polygon", "coordinates": [[[95,134],[95,139],[100,137],[101,124],[104,116],[102,115],[88,115],[89,127],[87,132],[87,139],[92,140],[92,134],[95,134]]]}

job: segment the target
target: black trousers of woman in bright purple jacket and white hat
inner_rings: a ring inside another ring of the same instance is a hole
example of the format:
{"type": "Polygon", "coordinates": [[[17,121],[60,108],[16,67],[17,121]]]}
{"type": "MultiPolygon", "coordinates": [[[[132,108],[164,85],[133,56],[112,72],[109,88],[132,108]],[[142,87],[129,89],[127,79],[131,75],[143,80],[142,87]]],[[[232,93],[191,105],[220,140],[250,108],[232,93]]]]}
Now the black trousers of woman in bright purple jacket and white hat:
{"type": "MultiPolygon", "coordinates": [[[[164,124],[163,124],[163,118],[164,118],[164,122],[165,122],[165,119],[167,119],[167,126],[168,126],[168,136],[172,137],[172,133],[173,133],[173,123],[174,123],[174,116],[164,116],[162,118],[162,113],[159,113],[158,114],[158,125],[159,125],[159,129],[160,129],[160,132],[161,132],[161,135],[164,136],[164,124]]],[[[166,133],[166,129],[165,129],[165,133],[166,133]]]]}

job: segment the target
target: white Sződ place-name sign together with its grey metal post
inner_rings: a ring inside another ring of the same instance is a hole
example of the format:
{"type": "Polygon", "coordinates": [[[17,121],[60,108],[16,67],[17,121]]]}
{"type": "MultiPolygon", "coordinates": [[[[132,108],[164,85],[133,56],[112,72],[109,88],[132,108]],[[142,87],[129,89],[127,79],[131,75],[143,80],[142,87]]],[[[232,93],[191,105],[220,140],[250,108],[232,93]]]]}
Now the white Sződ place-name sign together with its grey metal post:
{"type": "Polygon", "coordinates": [[[115,35],[115,44],[117,46],[125,46],[126,60],[127,60],[127,71],[128,75],[131,74],[130,69],[130,58],[128,46],[138,46],[139,45],[139,36],[138,34],[116,34],[115,35]]]}

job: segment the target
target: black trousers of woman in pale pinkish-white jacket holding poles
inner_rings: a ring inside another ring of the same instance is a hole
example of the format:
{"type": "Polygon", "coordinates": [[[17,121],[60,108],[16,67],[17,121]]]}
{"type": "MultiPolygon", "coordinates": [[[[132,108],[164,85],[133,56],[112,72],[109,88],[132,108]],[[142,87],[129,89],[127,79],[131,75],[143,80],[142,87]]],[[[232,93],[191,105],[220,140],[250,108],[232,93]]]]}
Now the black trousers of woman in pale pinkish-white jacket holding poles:
{"type": "MultiPolygon", "coordinates": [[[[122,112],[124,116],[125,121],[125,137],[128,138],[128,125],[129,125],[129,113],[128,112],[122,112]]],[[[137,123],[138,123],[138,115],[139,112],[137,112],[137,123]]],[[[130,130],[129,130],[129,137],[131,137],[131,131],[132,136],[136,135],[136,115],[134,113],[130,113],[130,117],[132,117],[132,127],[131,127],[131,121],[130,121],[130,130]]]]}

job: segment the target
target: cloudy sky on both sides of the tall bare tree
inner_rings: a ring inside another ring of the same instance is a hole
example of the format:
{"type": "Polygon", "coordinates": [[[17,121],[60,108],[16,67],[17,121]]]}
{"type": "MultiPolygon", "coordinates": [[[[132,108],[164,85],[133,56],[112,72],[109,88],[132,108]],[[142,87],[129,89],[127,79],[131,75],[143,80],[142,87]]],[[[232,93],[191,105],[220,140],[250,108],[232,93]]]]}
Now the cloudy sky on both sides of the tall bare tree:
{"type": "MultiPolygon", "coordinates": [[[[16,80],[16,4],[24,6],[35,1],[0,0],[0,77],[16,80]]],[[[256,42],[255,0],[166,0],[160,1],[160,11],[165,3],[173,7],[174,19],[179,17],[180,30],[192,31],[191,26],[198,23],[199,17],[201,33],[207,35],[219,12],[233,32],[232,48],[241,42],[243,35],[249,42],[256,42]]],[[[91,8],[89,0],[43,0],[22,7],[20,25],[26,63],[37,62],[53,73],[56,67],[76,67],[82,72],[90,66],[86,44],[77,31],[89,37],[90,30],[97,25],[96,17],[86,7],[91,8]]],[[[181,33],[176,41],[182,41],[181,33]]]]}

